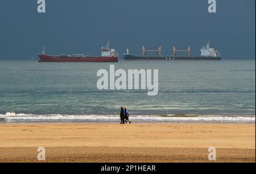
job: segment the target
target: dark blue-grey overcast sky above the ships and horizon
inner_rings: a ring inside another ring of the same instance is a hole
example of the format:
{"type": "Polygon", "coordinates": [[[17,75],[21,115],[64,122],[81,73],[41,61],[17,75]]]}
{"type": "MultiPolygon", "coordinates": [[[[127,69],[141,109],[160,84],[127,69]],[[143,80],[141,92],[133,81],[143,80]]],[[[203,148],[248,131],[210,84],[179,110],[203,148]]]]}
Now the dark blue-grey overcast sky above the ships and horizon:
{"type": "Polygon", "coordinates": [[[46,14],[37,0],[0,0],[0,57],[30,59],[48,54],[100,55],[110,40],[119,55],[129,47],[191,45],[199,55],[209,41],[224,59],[255,59],[255,0],[46,0],[46,14]]]}

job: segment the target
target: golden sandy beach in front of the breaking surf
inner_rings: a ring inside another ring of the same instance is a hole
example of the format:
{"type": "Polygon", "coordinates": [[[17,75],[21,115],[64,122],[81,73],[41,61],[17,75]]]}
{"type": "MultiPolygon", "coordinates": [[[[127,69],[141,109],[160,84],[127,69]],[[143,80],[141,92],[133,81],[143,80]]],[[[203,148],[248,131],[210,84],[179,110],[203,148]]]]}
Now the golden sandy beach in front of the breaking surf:
{"type": "Polygon", "coordinates": [[[255,162],[255,124],[26,123],[0,125],[0,162],[255,162]]]}

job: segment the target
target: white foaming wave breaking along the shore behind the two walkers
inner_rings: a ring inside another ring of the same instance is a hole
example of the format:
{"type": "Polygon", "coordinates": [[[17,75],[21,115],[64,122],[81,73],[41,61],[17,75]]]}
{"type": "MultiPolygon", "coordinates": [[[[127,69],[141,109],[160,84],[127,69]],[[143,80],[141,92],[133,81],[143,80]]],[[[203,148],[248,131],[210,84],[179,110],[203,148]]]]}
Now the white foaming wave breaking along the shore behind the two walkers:
{"type": "MultiPolygon", "coordinates": [[[[227,122],[227,123],[255,123],[255,116],[239,115],[189,115],[189,114],[162,114],[162,115],[131,115],[136,122],[227,122]]],[[[19,121],[81,121],[81,122],[117,122],[119,115],[61,115],[61,114],[16,114],[7,112],[0,114],[0,120],[7,122],[19,121]]]]}

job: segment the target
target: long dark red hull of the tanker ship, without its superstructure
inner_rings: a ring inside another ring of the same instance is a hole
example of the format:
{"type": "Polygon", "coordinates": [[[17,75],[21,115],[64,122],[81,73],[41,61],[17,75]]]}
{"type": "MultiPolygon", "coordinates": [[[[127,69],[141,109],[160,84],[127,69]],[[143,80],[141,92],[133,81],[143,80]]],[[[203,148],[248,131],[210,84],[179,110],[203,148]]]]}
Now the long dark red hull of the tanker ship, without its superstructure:
{"type": "Polygon", "coordinates": [[[60,57],[39,55],[39,62],[118,62],[118,57],[60,57]]]}

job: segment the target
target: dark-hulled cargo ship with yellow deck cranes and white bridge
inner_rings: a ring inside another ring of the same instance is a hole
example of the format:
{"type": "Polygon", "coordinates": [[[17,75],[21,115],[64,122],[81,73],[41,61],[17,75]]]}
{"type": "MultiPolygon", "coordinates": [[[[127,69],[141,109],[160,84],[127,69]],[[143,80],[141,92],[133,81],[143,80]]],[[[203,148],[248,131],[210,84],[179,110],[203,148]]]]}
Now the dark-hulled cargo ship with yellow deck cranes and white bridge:
{"type": "Polygon", "coordinates": [[[142,55],[133,55],[127,52],[123,54],[125,60],[221,60],[220,52],[210,47],[209,42],[203,45],[200,56],[191,56],[191,48],[176,48],[173,47],[173,55],[162,55],[161,46],[158,49],[146,49],[142,46],[142,55]],[[157,55],[146,55],[146,51],[158,52],[157,55]],[[187,55],[177,55],[177,52],[185,52],[187,55]]]}

